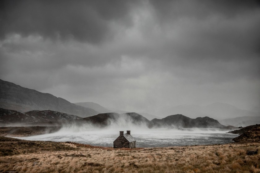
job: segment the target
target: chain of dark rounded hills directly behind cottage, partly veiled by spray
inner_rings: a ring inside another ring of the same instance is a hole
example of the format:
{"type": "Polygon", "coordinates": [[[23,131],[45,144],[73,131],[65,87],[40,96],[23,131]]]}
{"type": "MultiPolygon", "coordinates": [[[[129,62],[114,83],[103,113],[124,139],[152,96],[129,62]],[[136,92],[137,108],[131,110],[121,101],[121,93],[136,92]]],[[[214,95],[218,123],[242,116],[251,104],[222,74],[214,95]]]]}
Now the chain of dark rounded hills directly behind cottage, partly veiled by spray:
{"type": "Polygon", "coordinates": [[[118,114],[115,112],[102,113],[95,116],[86,117],[80,120],[75,120],[78,124],[92,124],[99,127],[106,127],[111,124],[127,126],[128,123],[137,126],[147,126],[149,128],[225,128],[226,126],[220,124],[218,120],[210,117],[197,117],[196,119],[177,114],[167,116],[163,119],[148,120],[140,114],[129,112],[118,114]]]}

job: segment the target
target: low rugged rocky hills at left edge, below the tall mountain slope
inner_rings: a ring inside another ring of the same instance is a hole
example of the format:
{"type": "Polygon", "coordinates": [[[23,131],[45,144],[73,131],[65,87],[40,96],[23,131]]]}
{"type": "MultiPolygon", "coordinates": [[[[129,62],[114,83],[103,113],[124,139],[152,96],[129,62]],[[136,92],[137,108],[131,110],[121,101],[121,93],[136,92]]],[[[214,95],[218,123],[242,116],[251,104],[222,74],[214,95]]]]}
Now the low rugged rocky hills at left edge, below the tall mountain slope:
{"type": "Polygon", "coordinates": [[[62,124],[69,123],[72,120],[79,119],[81,117],[75,115],[69,115],[57,111],[29,111],[18,112],[14,110],[0,108],[0,124],[62,124]]]}

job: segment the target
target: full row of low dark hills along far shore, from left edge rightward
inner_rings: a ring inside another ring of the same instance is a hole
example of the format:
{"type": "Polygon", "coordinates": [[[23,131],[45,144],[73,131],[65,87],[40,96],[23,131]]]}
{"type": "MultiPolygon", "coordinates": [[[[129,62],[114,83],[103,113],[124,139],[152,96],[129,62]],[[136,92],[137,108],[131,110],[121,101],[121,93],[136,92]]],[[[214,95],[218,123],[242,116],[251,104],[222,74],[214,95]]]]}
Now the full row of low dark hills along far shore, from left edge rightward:
{"type": "Polygon", "coordinates": [[[44,110],[33,110],[29,112],[18,112],[0,108],[0,125],[7,124],[71,124],[87,127],[149,127],[149,128],[225,128],[217,120],[209,117],[197,117],[196,119],[177,114],[167,116],[163,119],[148,120],[144,116],[135,113],[102,113],[86,118],[69,115],[62,112],[44,110]]]}

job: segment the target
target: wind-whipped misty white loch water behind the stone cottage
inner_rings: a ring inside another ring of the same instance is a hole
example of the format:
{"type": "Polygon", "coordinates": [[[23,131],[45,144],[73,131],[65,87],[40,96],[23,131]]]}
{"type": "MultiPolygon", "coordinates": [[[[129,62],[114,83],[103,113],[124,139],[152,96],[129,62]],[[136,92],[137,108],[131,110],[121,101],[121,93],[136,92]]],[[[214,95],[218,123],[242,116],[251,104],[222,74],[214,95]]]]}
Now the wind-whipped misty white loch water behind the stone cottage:
{"type": "Polygon", "coordinates": [[[227,130],[221,129],[149,129],[132,127],[117,128],[87,128],[87,127],[63,127],[56,133],[20,137],[26,140],[40,141],[71,141],[93,146],[113,147],[113,141],[119,136],[119,131],[131,130],[131,135],[137,140],[137,147],[168,147],[168,146],[190,146],[190,145],[209,145],[224,144],[233,142],[236,134],[226,133],[227,130]]]}

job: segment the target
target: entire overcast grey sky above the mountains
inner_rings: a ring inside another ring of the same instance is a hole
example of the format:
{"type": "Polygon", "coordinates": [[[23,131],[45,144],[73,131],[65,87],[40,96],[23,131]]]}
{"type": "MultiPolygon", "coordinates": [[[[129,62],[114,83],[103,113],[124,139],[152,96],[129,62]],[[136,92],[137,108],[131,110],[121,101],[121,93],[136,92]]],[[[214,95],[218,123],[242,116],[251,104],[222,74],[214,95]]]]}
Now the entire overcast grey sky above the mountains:
{"type": "Polygon", "coordinates": [[[3,0],[0,78],[132,112],[260,112],[259,31],[251,0],[3,0]]]}

